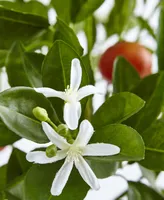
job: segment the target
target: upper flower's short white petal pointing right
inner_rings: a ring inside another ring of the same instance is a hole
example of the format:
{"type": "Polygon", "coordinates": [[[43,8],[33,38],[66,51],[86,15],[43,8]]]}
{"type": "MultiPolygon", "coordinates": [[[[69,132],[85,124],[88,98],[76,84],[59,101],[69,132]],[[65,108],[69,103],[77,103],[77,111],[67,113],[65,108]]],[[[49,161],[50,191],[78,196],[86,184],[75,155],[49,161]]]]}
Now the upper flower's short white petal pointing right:
{"type": "Polygon", "coordinates": [[[84,97],[89,96],[91,94],[95,94],[95,93],[97,93],[97,89],[95,86],[93,85],[84,86],[78,90],[77,100],[80,101],[84,97]]]}

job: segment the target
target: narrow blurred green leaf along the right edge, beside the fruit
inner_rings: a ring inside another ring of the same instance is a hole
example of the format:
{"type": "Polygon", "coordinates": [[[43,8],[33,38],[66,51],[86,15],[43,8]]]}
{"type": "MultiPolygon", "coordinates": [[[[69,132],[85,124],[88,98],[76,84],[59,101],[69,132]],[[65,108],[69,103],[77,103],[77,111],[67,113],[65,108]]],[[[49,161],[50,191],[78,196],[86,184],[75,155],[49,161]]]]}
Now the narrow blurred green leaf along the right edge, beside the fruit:
{"type": "Polygon", "coordinates": [[[158,69],[164,70],[164,8],[160,9],[158,33],[157,33],[157,58],[158,58],[158,69]]]}

